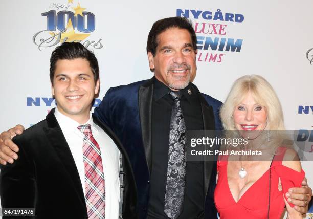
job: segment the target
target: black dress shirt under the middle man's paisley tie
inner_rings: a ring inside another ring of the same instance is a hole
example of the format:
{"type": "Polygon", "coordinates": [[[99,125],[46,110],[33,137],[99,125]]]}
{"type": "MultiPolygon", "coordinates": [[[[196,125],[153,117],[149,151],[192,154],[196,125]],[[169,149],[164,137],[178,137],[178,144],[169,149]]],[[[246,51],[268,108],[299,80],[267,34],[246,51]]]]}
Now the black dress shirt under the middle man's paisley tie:
{"type": "MultiPolygon", "coordinates": [[[[152,169],[148,218],[168,218],[164,213],[164,197],[167,179],[169,128],[174,100],[168,94],[169,87],[154,79],[152,103],[152,169]]],[[[187,86],[182,89],[181,108],[186,130],[203,130],[203,118],[198,94],[187,86]]],[[[195,218],[204,213],[204,165],[190,162],[186,165],[184,210],[179,219],[195,218]]]]}

